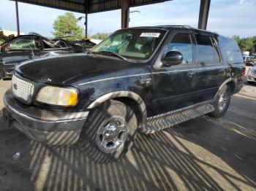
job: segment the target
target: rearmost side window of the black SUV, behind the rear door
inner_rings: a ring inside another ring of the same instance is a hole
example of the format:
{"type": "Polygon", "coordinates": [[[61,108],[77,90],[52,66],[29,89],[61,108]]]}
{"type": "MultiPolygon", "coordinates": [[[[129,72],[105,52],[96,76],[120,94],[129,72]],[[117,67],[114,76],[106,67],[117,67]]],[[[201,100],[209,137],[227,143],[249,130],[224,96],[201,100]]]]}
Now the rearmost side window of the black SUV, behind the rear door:
{"type": "Polygon", "coordinates": [[[238,44],[233,39],[219,36],[219,46],[221,47],[227,63],[243,63],[243,57],[238,44]]]}

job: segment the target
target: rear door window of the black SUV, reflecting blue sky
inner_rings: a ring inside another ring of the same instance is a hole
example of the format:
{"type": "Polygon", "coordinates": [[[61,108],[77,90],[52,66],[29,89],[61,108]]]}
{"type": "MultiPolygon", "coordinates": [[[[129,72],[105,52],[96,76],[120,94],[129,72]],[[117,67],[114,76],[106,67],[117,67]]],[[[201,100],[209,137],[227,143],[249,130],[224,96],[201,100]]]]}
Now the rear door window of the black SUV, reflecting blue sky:
{"type": "Polygon", "coordinates": [[[195,38],[197,40],[197,63],[206,66],[219,62],[217,61],[217,50],[211,42],[211,37],[196,35],[195,38]]]}

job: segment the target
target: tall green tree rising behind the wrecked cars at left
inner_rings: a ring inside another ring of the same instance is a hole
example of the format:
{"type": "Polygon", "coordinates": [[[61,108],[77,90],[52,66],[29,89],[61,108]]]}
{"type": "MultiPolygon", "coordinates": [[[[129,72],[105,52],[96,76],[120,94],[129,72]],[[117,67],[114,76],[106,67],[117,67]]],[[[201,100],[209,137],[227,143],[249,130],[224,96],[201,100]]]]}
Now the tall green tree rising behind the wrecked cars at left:
{"type": "Polygon", "coordinates": [[[69,36],[65,39],[76,40],[83,38],[83,28],[78,26],[78,20],[72,12],[66,12],[64,15],[59,15],[53,23],[52,32],[56,38],[61,36],[69,36]]]}

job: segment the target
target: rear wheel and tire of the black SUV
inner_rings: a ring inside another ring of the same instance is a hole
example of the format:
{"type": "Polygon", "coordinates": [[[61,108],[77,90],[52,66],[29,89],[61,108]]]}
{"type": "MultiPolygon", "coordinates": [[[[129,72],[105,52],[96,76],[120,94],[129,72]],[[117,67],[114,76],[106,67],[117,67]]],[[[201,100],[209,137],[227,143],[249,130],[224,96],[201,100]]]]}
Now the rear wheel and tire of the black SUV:
{"type": "Polygon", "coordinates": [[[222,117],[227,112],[228,107],[230,106],[231,100],[231,90],[228,85],[222,87],[222,90],[219,91],[217,95],[217,101],[214,103],[214,112],[209,113],[211,117],[222,117]],[[225,104],[223,104],[224,102],[225,104]]]}

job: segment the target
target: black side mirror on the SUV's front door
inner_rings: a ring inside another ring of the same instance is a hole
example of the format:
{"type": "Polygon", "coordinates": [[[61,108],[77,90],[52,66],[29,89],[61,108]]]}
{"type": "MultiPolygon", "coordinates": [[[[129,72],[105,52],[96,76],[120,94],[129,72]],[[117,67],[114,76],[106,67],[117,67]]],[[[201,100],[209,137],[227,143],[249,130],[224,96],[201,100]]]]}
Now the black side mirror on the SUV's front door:
{"type": "Polygon", "coordinates": [[[178,51],[167,52],[165,58],[162,60],[163,66],[170,67],[178,65],[183,61],[183,55],[178,51]]]}

